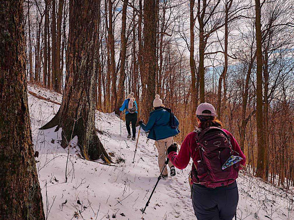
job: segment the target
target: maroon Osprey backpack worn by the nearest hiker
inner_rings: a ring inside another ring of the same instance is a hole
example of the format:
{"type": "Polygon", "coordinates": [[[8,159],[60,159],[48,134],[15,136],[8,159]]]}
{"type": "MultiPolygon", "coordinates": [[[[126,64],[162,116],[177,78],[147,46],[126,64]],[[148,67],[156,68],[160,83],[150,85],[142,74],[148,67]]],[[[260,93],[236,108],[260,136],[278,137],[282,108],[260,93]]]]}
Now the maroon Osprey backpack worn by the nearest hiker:
{"type": "Polygon", "coordinates": [[[200,160],[196,170],[192,169],[192,181],[210,188],[233,183],[238,178],[239,163],[222,170],[231,155],[238,155],[232,150],[230,137],[218,127],[208,127],[196,132],[195,138],[200,160]]]}

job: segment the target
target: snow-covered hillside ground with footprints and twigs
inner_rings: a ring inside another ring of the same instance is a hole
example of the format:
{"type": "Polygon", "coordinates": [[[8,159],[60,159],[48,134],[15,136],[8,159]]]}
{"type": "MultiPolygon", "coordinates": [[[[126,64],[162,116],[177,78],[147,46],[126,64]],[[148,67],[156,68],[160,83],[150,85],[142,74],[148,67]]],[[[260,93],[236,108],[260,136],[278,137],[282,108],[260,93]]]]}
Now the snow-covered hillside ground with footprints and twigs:
{"type": "MultiPolygon", "coordinates": [[[[32,85],[28,89],[61,103],[58,93],[32,85]]],[[[96,127],[103,133],[98,134],[99,138],[113,160],[121,163],[108,166],[83,160],[75,146],[76,137],[71,141],[67,163],[68,149],[59,145],[61,129],[38,129],[56,114],[59,105],[28,96],[34,148],[39,151],[36,165],[48,219],[196,219],[187,180],[191,165],[177,170],[176,177],[161,179],[142,214],[140,209],[145,207],[159,175],[154,141],[141,132],[132,163],[136,141],[126,138],[124,121],[97,111],[96,127]]],[[[237,219],[294,219],[293,190],[279,189],[245,173],[240,173],[238,188],[237,219]]]]}

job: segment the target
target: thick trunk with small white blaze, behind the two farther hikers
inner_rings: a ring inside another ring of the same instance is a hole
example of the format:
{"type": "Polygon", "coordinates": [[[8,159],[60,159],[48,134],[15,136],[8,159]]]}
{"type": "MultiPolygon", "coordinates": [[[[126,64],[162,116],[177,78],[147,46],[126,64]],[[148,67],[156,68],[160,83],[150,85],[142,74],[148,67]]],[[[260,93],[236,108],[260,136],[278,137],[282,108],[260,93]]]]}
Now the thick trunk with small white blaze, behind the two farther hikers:
{"type": "Polygon", "coordinates": [[[143,50],[143,87],[141,99],[141,116],[143,121],[149,118],[149,112],[152,111],[153,102],[151,100],[155,97],[155,84],[156,84],[156,11],[155,0],[144,1],[144,50],[143,50]]]}

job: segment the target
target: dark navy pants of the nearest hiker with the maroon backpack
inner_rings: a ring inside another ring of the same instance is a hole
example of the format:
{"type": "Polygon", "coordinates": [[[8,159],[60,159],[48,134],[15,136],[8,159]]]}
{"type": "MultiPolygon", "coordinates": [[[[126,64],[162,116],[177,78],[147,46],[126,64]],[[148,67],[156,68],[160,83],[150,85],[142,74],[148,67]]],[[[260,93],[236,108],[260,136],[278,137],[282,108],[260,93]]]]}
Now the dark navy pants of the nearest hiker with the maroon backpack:
{"type": "Polygon", "coordinates": [[[197,220],[232,220],[238,200],[236,181],[215,189],[193,184],[192,203],[197,220]]]}

